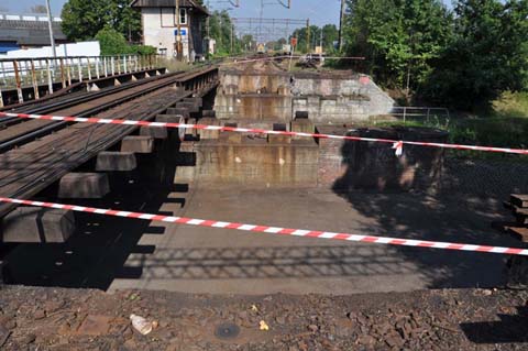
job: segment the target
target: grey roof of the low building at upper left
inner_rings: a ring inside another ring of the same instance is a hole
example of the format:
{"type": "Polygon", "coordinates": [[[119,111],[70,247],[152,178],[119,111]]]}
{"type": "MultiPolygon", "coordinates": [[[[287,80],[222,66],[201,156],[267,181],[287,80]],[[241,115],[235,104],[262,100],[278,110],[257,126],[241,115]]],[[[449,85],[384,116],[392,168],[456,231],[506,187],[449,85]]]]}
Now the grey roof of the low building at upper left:
{"type": "MultiPolygon", "coordinates": [[[[54,21],[52,28],[55,41],[66,42],[61,22],[54,21]]],[[[0,19],[0,42],[15,42],[20,46],[50,45],[47,22],[0,19]]]]}

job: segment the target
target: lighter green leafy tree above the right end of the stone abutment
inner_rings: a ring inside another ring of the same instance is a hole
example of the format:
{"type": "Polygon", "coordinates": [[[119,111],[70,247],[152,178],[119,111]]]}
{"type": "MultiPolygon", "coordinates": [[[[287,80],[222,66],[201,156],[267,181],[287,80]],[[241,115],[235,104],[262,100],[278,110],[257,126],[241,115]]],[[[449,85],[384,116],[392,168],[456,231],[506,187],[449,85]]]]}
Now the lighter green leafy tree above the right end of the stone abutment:
{"type": "Polygon", "coordinates": [[[348,0],[346,53],[365,56],[366,69],[388,86],[418,88],[452,37],[440,0],[348,0]]]}

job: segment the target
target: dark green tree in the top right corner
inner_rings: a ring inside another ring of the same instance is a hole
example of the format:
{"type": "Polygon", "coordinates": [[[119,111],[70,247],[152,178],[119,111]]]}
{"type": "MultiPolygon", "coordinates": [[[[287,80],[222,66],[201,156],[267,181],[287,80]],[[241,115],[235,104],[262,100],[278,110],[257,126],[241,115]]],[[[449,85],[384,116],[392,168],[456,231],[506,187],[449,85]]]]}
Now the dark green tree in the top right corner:
{"type": "Polygon", "coordinates": [[[458,1],[455,36],[436,63],[425,96],[463,109],[527,88],[528,1],[458,1]]]}

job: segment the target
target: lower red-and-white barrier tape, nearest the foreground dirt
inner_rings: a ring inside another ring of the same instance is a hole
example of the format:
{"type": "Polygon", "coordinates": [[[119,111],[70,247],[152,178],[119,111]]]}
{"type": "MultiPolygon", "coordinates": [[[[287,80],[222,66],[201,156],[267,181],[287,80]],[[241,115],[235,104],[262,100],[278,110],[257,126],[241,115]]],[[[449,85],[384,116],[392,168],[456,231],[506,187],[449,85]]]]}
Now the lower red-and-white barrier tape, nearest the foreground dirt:
{"type": "Polygon", "coordinates": [[[463,243],[453,243],[453,242],[424,241],[424,240],[398,239],[398,238],[387,238],[387,237],[359,235],[359,234],[350,234],[350,233],[334,233],[334,232],[316,231],[316,230],[288,229],[288,228],[279,228],[279,227],[244,224],[244,223],[223,222],[223,221],[205,220],[205,219],[196,219],[196,218],[118,211],[118,210],[111,210],[111,209],[101,209],[101,208],[92,208],[92,207],[75,206],[75,205],[19,200],[19,199],[12,199],[12,198],[3,198],[3,197],[0,197],[0,202],[11,202],[11,204],[18,204],[18,205],[65,209],[65,210],[72,210],[72,211],[78,211],[78,212],[98,213],[98,215],[124,217],[124,218],[135,218],[135,219],[161,221],[161,222],[168,222],[168,223],[234,229],[234,230],[252,231],[252,232],[260,232],[260,233],[356,241],[356,242],[378,243],[378,244],[399,245],[399,246],[417,246],[417,248],[430,248],[430,249],[442,249],[442,250],[473,251],[473,252],[482,252],[482,253],[501,253],[501,254],[525,255],[525,256],[528,255],[528,249],[486,246],[486,245],[463,244],[463,243]]]}

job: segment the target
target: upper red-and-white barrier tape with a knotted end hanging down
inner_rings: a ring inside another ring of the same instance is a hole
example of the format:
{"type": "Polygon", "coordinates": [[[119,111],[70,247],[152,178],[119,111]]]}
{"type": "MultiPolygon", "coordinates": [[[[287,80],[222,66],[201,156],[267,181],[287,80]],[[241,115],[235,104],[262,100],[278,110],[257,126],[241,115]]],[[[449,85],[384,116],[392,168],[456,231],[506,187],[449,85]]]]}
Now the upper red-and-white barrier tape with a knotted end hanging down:
{"type": "Polygon", "coordinates": [[[133,120],[111,120],[111,119],[103,119],[103,118],[61,117],[61,116],[50,116],[50,114],[25,114],[25,113],[11,113],[11,112],[0,112],[0,116],[36,119],[36,120],[81,122],[81,123],[140,125],[140,127],[155,127],[155,128],[186,128],[186,129],[215,130],[215,131],[238,132],[238,133],[275,134],[275,135],[289,135],[289,136],[295,135],[295,136],[305,136],[305,138],[341,139],[341,140],[365,141],[365,142],[378,142],[378,143],[393,144],[393,149],[396,150],[396,155],[402,155],[404,144],[429,146],[429,147],[472,150],[472,151],[528,155],[528,150],[525,150],[525,149],[429,143],[429,142],[418,142],[418,141],[400,141],[400,140],[391,140],[391,139],[362,138],[362,136],[351,136],[351,135],[332,135],[332,134],[320,134],[320,133],[285,132],[285,131],[272,131],[272,130],[265,130],[265,129],[250,129],[250,128],[235,128],[235,127],[221,127],[221,125],[165,123],[165,122],[148,122],[148,121],[133,121],[133,120]]]}

